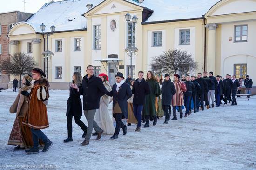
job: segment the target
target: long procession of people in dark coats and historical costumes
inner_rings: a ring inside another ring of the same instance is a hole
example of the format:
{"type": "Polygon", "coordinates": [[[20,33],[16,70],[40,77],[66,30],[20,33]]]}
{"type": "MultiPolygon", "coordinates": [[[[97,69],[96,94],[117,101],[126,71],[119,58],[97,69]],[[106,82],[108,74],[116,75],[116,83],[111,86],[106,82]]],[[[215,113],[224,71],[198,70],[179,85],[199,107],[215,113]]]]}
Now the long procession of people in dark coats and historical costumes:
{"type": "MultiPolygon", "coordinates": [[[[232,101],[231,105],[237,105],[236,92],[241,86],[240,82],[233,75],[222,81],[221,76],[213,76],[213,72],[198,73],[197,76],[182,76],[174,74],[172,82],[169,74],[155,76],[152,71],[148,71],[146,79],[144,72],[138,72],[138,78],[124,78],[118,72],[115,75],[116,83],[110,86],[108,76],[104,73],[99,77],[94,75],[94,67],[88,65],[86,76],[74,72],[72,83],[69,89],[67,100],[67,139],[64,143],[73,141],[72,119],[80,126],[82,138],[81,145],[89,145],[91,136],[96,136],[95,140],[100,140],[102,134],[112,135],[110,139],[117,139],[122,129],[122,134],[127,134],[127,126],[136,124],[135,132],[143,128],[157,124],[157,120],[165,116],[164,124],[169,120],[178,120],[188,117],[194,113],[213,107],[220,107],[222,100],[224,105],[232,101]],[[125,81],[130,82],[129,84],[125,81]],[[80,96],[83,96],[81,102],[80,96]],[[231,96],[232,95],[232,99],[231,96]],[[113,101],[112,116],[115,118],[116,126],[108,113],[109,103],[113,101]],[[216,103],[216,104],[215,104],[216,103]],[[183,115],[183,108],[185,114],[183,115]],[[86,126],[80,119],[82,111],[87,119],[86,126]],[[173,113],[173,118],[171,118],[173,113]],[[127,120],[124,122],[123,120],[127,120]],[[93,129],[95,133],[93,133],[93,129]]],[[[9,145],[16,145],[14,150],[30,148],[27,154],[39,153],[39,148],[43,152],[48,151],[53,144],[41,129],[49,127],[47,116],[47,101],[49,98],[49,82],[45,73],[39,69],[32,70],[32,76],[25,75],[22,83],[24,86],[19,90],[18,96],[10,108],[11,113],[17,113],[13,129],[8,141],[9,145]],[[35,80],[34,86],[31,81],[35,80]],[[18,134],[18,135],[17,135],[18,134]]],[[[248,76],[249,77],[249,76],[248,76]]],[[[248,91],[252,86],[252,80],[248,79],[248,91]]],[[[250,92],[248,92],[250,93],[250,92]]]]}

